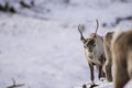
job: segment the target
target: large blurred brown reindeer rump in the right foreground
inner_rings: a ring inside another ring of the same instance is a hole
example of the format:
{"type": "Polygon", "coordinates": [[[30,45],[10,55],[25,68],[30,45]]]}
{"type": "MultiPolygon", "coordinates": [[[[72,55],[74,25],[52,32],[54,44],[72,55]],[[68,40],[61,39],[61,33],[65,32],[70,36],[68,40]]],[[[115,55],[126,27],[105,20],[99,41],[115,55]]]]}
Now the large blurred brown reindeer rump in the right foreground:
{"type": "Polygon", "coordinates": [[[112,40],[114,88],[123,88],[132,79],[132,30],[116,33],[112,40]]]}

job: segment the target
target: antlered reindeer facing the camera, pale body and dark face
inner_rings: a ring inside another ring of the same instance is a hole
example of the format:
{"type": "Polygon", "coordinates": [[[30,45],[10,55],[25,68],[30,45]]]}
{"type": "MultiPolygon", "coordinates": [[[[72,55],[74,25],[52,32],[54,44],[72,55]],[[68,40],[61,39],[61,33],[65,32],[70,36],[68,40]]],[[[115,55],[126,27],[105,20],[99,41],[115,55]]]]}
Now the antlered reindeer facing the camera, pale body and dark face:
{"type": "Polygon", "coordinates": [[[102,36],[97,34],[99,23],[97,21],[97,28],[95,33],[90,33],[87,38],[84,37],[81,30],[84,28],[81,25],[78,26],[78,31],[80,33],[80,41],[84,44],[85,55],[90,68],[90,79],[94,84],[94,66],[96,66],[99,70],[98,78],[105,77],[105,73],[102,70],[102,65],[105,64],[105,51],[103,51],[103,38],[102,36]]]}

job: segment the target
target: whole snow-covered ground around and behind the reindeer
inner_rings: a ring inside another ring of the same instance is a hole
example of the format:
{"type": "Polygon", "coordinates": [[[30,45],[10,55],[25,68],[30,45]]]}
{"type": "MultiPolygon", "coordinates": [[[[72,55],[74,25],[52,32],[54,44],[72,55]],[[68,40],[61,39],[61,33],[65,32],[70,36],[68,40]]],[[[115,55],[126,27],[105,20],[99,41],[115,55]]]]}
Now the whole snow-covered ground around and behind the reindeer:
{"type": "MultiPolygon", "coordinates": [[[[72,0],[70,4],[37,1],[35,10],[0,12],[0,88],[12,85],[11,78],[25,84],[22,88],[81,88],[90,78],[77,25],[85,24],[88,35],[95,32],[95,19],[101,24],[132,15],[131,0],[72,0]]],[[[117,28],[130,29],[132,21],[123,21],[117,28]]],[[[100,26],[98,34],[110,29],[114,30],[100,26]]],[[[112,87],[112,82],[98,84],[99,88],[112,87]]]]}

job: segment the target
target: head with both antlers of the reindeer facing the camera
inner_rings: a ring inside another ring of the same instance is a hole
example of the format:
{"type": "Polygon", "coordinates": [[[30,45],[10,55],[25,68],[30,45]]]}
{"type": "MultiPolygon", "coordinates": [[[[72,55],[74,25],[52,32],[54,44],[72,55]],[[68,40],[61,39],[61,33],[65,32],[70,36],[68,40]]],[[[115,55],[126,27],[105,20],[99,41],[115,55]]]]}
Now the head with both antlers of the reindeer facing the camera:
{"type": "Polygon", "coordinates": [[[84,26],[79,25],[78,26],[78,31],[80,33],[80,41],[82,42],[84,44],[84,48],[85,51],[87,51],[87,56],[90,58],[90,59],[94,59],[95,58],[95,53],[98,52],[98,42],[97,42],[97,31],[98,31],[98,28],[99,28],[99,23],[98,23],[98,20],[97,21],[97,28],[96,28],[96,32],[95,33],[91,33],[89,34],[89,36],[87,38],[84,37],[82,35],[82,32],[81,30],[84,30],[84,26]]]}

